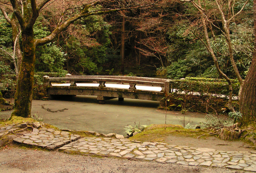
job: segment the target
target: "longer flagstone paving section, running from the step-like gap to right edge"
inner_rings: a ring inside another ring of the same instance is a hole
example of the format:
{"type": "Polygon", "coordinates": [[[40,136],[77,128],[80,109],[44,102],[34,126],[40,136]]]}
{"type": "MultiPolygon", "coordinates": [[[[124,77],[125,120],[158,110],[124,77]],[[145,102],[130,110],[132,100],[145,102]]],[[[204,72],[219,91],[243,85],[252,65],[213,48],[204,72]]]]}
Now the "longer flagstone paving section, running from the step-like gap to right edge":
{"type": "Polygon", "coordinates": [[[211,148],[194,148],[159,142],[97,137],[80,138],[60,147],[59,150],[182,165],[202,165],[256,171],[256,152],[254,151],[216,151],[211,148]]]}

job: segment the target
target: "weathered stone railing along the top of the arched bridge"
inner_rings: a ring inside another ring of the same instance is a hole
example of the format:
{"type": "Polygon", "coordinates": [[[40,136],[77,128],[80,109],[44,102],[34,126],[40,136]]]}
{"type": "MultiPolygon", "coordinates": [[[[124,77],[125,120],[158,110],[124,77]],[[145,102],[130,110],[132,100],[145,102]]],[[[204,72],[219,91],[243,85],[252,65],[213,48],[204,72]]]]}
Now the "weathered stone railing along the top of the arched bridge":
{"type": "Polygon", "coordinates": [[[43,81],[45,86],[51,86],[51,83],[58,83],[61,81],[66,81],[66,83],[70,83],[70,86],[76,86],[76,83],[95,81],[99,83],[99,87],[106,87],[106,82],[122,84],[128,83],[130,85],[130,90],[136,90],[135,86],[137,84],[146,86],[160,86],[162,88],[160,92],[164,92],[164,94],[168,94],[170,88],[170,80],[134,76],[72,76],[70,74],[67,74],[66,77],[44,76],[43,81]]]}

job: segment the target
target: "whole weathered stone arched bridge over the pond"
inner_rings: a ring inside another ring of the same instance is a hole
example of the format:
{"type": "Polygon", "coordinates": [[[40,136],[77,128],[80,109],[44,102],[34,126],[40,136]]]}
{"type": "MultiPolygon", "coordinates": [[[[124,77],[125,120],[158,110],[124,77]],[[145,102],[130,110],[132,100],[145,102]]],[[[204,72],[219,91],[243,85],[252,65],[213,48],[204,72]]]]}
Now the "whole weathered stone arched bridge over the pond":
{"type": "Polygon", "coordinates": [[[107,99],[135,98],[161,101],[169,93],[170,80],[132,76],[43,77],[47,94],[98,96],[100,104],[107,99]]]}

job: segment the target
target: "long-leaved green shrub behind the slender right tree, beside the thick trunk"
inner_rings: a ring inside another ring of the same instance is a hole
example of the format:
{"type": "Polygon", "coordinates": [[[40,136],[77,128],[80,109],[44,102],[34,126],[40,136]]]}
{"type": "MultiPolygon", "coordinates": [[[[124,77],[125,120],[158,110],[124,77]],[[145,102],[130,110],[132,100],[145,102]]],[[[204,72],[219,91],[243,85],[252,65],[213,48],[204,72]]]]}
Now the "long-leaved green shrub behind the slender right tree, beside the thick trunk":
{"type": "MultiPolygon", "coordinates": [[[[236,66],[242,77],[245,77],[245,71],[249,69],[252,63],[252,50],[254,47],[254,33],[252,30],[252,21],[244,22],[236,25],[233,23],[230,26],[230,38],[233,48],[233,56],[236,62],[236,66]]],[[[224,35],[216,36],[216,39],[211,40],[212,48],[215,54],[218,56],[221,70],[233,76],[234,69],[229,63],[229,51],[228,44],[224,35]]]]}

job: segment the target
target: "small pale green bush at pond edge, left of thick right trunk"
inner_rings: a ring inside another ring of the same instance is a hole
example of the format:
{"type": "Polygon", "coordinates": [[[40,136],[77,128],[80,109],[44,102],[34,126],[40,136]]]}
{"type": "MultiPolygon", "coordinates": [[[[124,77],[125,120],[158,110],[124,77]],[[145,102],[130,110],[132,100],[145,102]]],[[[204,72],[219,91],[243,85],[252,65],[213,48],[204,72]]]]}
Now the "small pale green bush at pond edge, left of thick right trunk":
{"type": "Polygon", "coordinates": [[[205,121],[202,122],[204,128],[214,128],[214,129],[221,129],[225,125],[230,124],[229,120],[224,120],[222,118],[218,118],[216,115],[207,114],[204,117],[205,121]]]}

